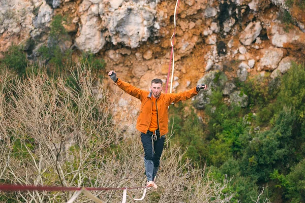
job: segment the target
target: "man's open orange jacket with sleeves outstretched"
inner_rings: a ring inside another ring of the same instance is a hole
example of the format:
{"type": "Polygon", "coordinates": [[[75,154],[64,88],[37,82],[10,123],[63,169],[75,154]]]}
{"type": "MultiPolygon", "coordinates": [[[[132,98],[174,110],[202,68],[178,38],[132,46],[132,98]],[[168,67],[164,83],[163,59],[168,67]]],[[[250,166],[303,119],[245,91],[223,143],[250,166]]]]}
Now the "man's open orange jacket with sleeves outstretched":
{"type": "MultiPolygon", "coordinates": [[[[141,100],[141,109],[140,114],[137,120],[136,128],[143,133],[147,133],[150,120],[151,120],[151,111],[153,109],[153,103],[151,99],[151,92],[144,91],[139,88],[132,86],[131,84],[120,80],[119,78],[116,81],[116,84],[119,88],[126,91],[128,94],[141,100]]],[[[161,93],[157,98],[157,112],[158,112],[158,123],[160,135],[163,136],[168,132],[168,106],[171,103],[177,103],[181,100],[187,100],[195,95],[197,95],[196,87],[178,93],[161,93]]]]}

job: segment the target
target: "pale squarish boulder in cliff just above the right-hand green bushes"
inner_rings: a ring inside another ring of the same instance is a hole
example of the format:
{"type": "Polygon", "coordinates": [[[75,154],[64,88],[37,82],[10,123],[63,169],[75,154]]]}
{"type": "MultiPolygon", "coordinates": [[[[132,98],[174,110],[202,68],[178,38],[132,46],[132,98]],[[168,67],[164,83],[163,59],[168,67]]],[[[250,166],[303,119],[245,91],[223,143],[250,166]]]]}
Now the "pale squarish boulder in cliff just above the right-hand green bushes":
{"type": "Polygon", "coordinates": [[[280,48],[269,47],[262,49],[263,57],[260,59],[260,70],[275,70],[284,56],[284,51],[280,48]]]}

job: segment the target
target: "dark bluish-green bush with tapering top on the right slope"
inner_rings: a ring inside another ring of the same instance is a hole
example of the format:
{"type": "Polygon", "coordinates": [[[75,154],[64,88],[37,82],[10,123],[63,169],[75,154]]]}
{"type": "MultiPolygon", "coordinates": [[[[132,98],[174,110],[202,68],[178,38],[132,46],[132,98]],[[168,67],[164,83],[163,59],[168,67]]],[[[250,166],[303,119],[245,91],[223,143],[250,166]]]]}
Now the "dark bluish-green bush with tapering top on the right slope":
{"type": "Polygon", "coordinates": [[[284,109],[276,119],[275,126],[264,131],[249,143],[243,152],[242,173],[257,181],[267,182],[273,168],[289,170],[295,152],[295,115],[284,109]]]}

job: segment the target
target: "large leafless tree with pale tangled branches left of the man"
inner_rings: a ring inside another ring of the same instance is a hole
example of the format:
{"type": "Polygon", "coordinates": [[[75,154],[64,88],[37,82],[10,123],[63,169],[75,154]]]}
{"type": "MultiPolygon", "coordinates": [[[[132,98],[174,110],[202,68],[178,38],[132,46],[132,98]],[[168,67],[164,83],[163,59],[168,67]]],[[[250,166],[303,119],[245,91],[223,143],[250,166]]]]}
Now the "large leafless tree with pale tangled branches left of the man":
{"type": "MultiPolygon", "coordinates": [[[[8,180],[14,184],[82,186],[114,142],[112,103],[92,93],[93,76],[81,65],[70,80],[32,74],[10,88],[7,116],[20,146],[10,157],[8,180]]],[[[19,192],[17,201],[65,201],[72,193],[19,192]]]]}

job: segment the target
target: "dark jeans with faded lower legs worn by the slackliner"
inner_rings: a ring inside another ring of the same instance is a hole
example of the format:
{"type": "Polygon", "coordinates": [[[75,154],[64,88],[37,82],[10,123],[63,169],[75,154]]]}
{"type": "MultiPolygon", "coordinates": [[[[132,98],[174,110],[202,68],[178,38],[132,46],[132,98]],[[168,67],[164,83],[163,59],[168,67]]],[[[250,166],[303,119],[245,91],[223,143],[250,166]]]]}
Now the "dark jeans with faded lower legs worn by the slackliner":
{"type": "Polygon", "coordinates": [[[153,141],[151,138],[154,132],[147,131],[147,133],[141,133],[141,141],[144,148],[144,163],[145,173],[147,181],[153,181],[157,176],[159,170],[160,158],[163,152],[163,146],[165,142],[165,135],[160,137],[160,131],[156,130],[157,140],[153,141]],[[154,145],[153,145],[154,143],[154,145]],[[154,146],[154,150],[153,150],[154,146]]]}

